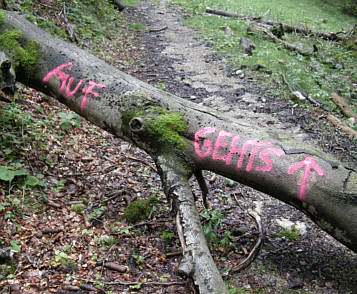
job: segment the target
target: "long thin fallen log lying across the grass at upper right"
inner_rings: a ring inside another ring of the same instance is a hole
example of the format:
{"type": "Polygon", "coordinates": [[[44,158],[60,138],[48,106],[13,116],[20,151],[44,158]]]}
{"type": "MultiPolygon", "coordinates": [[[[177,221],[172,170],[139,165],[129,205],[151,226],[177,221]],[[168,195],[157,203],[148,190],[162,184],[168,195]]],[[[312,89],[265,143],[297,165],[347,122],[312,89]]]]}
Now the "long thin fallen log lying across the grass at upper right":
{"type": "Polygon", "coordinates": [[[315,30],[310,30],[305,27],[299,27],[299,26],[293,26],[281,22],[276,22],[272,20],[264,20],[262,17],[253,17],[249,15],[243,15],[235,12],[229,12],[229,11],[224,11],[224,10],[219,10],[219,9],[213,9],[210,7],[206,8],[206,13],[210,14],[215,14],[215,15],[220,15],[220,16],[226,16],[226,17],[234,17],[234,18],[241,18],[245,20],[250,20],[250,21],[255,21],[258,23],[264,23],[270,26],[277,26],[281,27],[282,30],[286,33],[298,33],[298,34],[303,34],[303,35],[313,35],[325,40],[330,40],[330,41],[346,41],[348,40],[348,37],[346,36],[340,36],[340,34],[345,34],[348,35],[348,32],[331,32],[331,33],[326,33],[326,32],[321,32],[321,31],[315,31],[315,30]]]}

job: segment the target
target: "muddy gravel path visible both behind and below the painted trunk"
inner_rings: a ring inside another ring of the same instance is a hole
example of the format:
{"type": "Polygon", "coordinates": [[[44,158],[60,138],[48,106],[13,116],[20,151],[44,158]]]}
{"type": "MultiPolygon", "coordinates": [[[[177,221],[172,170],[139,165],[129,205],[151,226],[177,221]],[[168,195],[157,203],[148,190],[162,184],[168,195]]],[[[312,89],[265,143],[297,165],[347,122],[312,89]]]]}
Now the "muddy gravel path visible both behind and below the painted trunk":
{"type": "MultiPolygon", "coordinates": [[[[148,26],[139,40],[145,52],[140,60],[142,68],[136,67],[129,71],[130,74],[182,98],[244,118],[251,125],[313,141],[297,124],[305,114],[287,102],[266,96],[256,81],[242,73],[229,72],[222,58],[212,53],[196,32],[184,25],[183,14],[170,7],[169,2],[148,0],[142,1],[138,8],[127,9],[133,22],[148,26]]],[[[211,177],[207,172],[206,179],[211,177]]],[[[198,190],[196,185],[194,189],[198,190]]],[[[245,208],[259,211],[267,235],[254,264],[236,275],[228,274],[226,280],[250,289],[250,293],[357,293],[357,255],[321,231],[304,214],[238,183],[228,187],[225,179],[219,176],[210,183],[210,191],[209,201],[213,208],[222,211],[226,225],[243,224],[243,228],[232,231],[247,229],[244,227],[247,216],[243,212],[239,215],[225,213],[229,207],[236,206],[229,196],[236,193],[245,208]],[[228,196],[222,200],[222,195],[228,196]],[[273,236],[292,224],[301,231],[298,241],[273,236]]],[[[249,251],[253,241],[239,242],[249,251]]],[[[214,250],[212,255],[216,254],[214,250]]],[[[222,272],[224,259],[231,255],[235,253],[221,256],[218,264],[222,272]]]]}

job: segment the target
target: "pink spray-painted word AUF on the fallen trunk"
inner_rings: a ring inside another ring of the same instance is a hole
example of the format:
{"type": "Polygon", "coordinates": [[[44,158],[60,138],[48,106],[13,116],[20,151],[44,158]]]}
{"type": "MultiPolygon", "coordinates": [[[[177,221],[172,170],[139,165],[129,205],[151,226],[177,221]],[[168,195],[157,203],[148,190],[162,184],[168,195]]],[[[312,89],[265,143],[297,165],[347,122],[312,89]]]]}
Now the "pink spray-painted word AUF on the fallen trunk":
{"type": "MultiPolygon", "coordinates": [[[[62,94],[63,91],[65,91],[64,96],[69,100],[72,98],[72,96],[74,94],[76,94],[79,90],[79,88],[82,86],[82,84],[84,83],[82,80],[80,80],[77,85],[73,88],[73,90],[71,90],[72,87],[72,83],[74,81],[73,77],[70,77],[69,74],[63,72],[63,70],[65,68],[67,68],[68,71],[72,70],[72,62],[68,62],[65,64],[62,64],[60,66],[57,66],[55,69],[51,70],[43,79],[42,82],[46,83],[49,81],[49,79],[53,76],[57,76],[58,79],[60,79],[61,81],[61,87],[59,92],[62,94]],[[68,81],[68,82],[67,82],[68,81]]],[[[88,87],[83,87],[82,89],[82,93],[84,94],[83,99],[82,99],[82,103],[81,103],[81,110],[83,111],[86,103],[87,103],[87,99],[88,99],[88,95],[92,94],[95,97],[98,97],[98,93],[94,91],[95,88],[100,88],[103,89],[106,86],[103,84],[98,84],[96,82],[93,81],[89,81],[88,82],[88,87]]]]}

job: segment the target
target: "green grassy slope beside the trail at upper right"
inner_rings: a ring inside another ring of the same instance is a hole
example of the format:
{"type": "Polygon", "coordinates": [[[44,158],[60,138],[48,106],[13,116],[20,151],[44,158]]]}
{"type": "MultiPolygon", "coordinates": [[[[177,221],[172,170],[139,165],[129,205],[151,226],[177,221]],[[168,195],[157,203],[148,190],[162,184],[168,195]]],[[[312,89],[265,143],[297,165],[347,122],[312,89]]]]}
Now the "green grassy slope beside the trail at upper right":
{"type": "Polygon", "coordinates": [[[300,48],[317,46],[316,54],[302,56],[272,43],[261,34],[248,35],[249,24],[245,20],[204,13],[207,6],[250,16],[267,12],[266,19],[313,30],[350,30],[356,18],[343,14],[334,5],[322,0],[173,0],[172,3],[189,13],[186,23],[198,30],[215,52],[226,56],[233,70],[244,69],[248,75],[259,76],[271,89],[270,94],[289,99],[292,91],[302,91],[320,101],[325,108],[339,112],[329,99],[331,93],[338,92],[357,112],[357,89],[354,85],[357,83],[357,54],[354,46],[286,33],[284,40],[300,48]],[[229,27],[232,34],[227,34],[223,27],[229,27]],[[255,43],[256,49],[251,56],[243,53],[241,37],[248,37],[255,43]],[[258,72],[257,68],[262,70],[258,72]]]}

